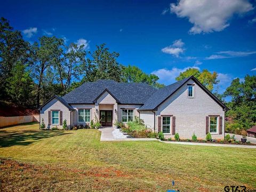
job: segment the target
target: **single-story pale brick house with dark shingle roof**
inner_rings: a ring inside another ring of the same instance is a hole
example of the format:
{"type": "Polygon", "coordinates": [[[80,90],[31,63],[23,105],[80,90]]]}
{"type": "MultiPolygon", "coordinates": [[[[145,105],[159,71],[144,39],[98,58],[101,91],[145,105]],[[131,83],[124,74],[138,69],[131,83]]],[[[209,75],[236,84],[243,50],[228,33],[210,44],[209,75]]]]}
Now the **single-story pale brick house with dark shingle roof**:
{"type": "Polygon", "coordinates": [[[138,116],[165,138],[177,132],[181,138],[193,133],[205,138],[210,132],[213,139],[222,139],[227,110],[194,76],[158,90],[146,83],[99,80],[86,82],[63,97],[55,95],[40,108],[40,121],[44,118],[46,125],[61,128],[64,119],[69,127],[99,119],[102,126],[115,126],[138,116]]]}

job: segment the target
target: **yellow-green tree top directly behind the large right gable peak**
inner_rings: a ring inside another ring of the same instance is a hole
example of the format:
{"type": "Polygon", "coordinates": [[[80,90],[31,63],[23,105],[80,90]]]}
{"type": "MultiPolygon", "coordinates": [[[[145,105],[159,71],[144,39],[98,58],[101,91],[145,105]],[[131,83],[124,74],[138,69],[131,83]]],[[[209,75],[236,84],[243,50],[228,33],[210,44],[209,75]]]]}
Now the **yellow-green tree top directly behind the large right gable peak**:
{"type": "Polygon", "coordinates": [[[201,82],[204,86],[206,86],[206,88],[210,91],[213,90],[213,85],[216,85],[219,82],[217,80],[218,75],[216,72],[211,73],[207,69],[203,69],[203,71],[201,72],[196,68],[187,69],[186,71],[180,73],[180,75],[175,79],[177,81],[180,81],[182,79],[190,77],[191,75],[194,75],[198,79],[198,81],[201,82]]]}

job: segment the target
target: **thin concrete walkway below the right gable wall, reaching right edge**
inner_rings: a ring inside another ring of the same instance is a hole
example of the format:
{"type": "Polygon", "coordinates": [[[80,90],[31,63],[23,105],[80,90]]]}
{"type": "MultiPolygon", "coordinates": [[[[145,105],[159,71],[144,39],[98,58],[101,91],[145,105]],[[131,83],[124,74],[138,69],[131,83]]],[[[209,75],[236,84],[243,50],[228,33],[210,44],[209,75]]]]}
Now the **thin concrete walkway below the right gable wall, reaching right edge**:
{"type": "MultiPolygon", "coordinates": [[[[159,140],[160,141],[160,140],[159,140]]],[[[234,148],[249,148],[256,149],[256,146],[246,146],[246,145],[231,145],[231,144],[219,144],[219,143],[197,143],[197,142],[182,142],[182,141],[161,141],[168,144],[178,144],[178,145],[197,145],[197,146],[213,146],[213,147],[234,147],[234,148]]]]}

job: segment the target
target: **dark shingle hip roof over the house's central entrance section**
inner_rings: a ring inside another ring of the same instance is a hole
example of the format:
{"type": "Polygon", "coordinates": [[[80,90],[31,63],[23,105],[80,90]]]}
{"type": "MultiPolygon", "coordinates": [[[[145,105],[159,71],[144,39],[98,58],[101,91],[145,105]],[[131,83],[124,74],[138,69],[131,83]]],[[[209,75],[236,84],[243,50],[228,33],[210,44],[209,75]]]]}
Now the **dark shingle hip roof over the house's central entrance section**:
{"type": "Polygon", "coordinates": [[[113,80],[86,82],[62,98],[67,103],[93,103],[105,90],[123,104],[143,104],[157,91],[147,83],[118,83],[113,80]]]}

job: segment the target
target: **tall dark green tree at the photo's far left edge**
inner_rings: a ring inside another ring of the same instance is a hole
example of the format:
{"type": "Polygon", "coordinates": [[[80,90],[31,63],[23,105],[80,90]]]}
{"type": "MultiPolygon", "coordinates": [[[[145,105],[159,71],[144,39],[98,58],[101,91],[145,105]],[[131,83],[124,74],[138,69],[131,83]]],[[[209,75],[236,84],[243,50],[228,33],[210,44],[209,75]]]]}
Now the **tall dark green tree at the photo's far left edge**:
{"type": "Polygon", "coordinates": [[[10,77],[13,67],[26,65],[29,55],[29,43],[22,38],[20,31],[13,30],[9,21],[0,19],[0,99],[9,98],[5,92],[6,79],[10,77]]]}

